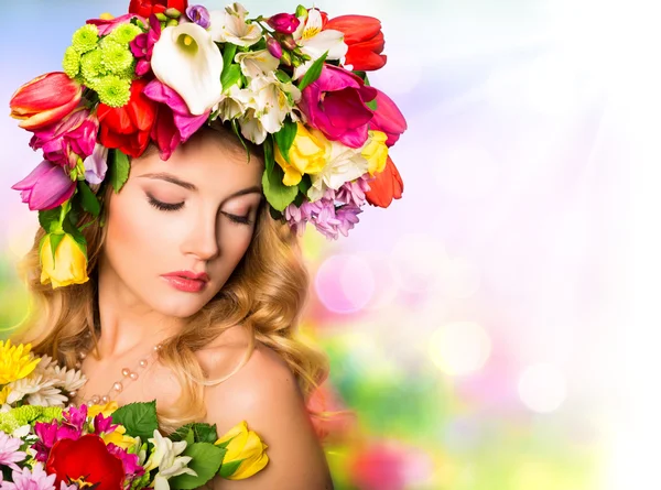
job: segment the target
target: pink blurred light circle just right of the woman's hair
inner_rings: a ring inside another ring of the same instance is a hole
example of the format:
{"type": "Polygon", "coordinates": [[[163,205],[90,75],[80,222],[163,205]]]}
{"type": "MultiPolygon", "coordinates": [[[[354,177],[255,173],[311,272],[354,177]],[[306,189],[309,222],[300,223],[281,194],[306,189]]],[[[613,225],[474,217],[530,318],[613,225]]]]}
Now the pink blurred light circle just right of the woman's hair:
{"type": "Polygon", "coordinates": [[[330,312],[354,313],[371,300],[375,277],[364,259],[349,254],[332,255],[316,273],[315,290],[330,312]]]}

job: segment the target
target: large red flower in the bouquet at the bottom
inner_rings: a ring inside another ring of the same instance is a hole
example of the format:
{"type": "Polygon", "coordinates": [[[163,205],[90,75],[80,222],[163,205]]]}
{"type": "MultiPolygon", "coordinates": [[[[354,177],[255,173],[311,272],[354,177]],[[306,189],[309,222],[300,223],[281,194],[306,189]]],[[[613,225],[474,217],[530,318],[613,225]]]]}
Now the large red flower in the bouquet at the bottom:
{"type": "Polygon", "coordinates": [[[46,472],[56,475],[55,486],[61,481],[91,483],[95,490],[122,490],[124,470],[119,458],[108,453],[106,443],[96,434],[79,439],[59,439],[51,449],[46,472]]]}

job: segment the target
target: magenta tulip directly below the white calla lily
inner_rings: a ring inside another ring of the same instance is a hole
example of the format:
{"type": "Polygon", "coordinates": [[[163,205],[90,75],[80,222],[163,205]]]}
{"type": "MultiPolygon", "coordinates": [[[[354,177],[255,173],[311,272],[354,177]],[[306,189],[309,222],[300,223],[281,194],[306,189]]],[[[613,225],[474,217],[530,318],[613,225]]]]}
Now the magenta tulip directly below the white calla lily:
{"type": "Polygon", "coordinates": [[[149,99],[161,102],[151,139],[159,146],[161,160],[167,160],[178,146],[191,138],[207,120],[210,110],[193,116],[184,99],[167,85],[153,79],[142,90],[149,99]]]}

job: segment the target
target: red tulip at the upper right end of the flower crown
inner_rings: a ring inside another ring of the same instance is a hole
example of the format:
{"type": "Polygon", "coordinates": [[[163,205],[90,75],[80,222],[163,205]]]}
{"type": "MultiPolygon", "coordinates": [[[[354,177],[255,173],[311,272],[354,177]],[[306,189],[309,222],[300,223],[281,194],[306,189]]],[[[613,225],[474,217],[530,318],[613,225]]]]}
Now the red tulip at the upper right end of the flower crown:
{"type": "Polygon", "coordinates": [[[383,33],[381,21],[368,15],[340,15],[330,19],[324,29],[340,31],[345,35],[345,43],[349,46],[346,64],[354,69],[370,72],[381,68],[387,61],[382,55],[383,33]]]}

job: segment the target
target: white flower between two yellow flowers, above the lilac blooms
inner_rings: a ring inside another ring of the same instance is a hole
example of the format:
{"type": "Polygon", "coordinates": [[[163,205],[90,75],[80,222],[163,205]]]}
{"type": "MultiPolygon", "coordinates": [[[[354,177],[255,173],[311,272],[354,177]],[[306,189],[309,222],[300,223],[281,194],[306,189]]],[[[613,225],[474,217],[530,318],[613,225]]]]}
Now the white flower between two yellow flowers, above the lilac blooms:
{"type": "Polygon", "coordinates": [[[337,190],[346,182],[365,174],[369,167],[369,162],[360,154],[360,149],[345,146],[337,141],[328,143],[328,163],[318,174],[310,175],[312,187],[307,190],[307,197],[313,203],[321,199],[327,189],[337,190]]]}

